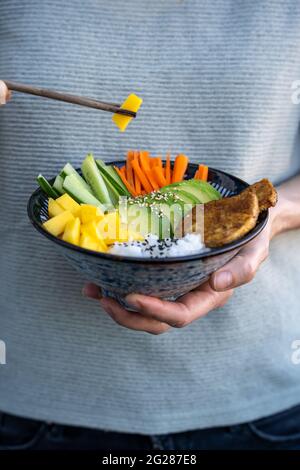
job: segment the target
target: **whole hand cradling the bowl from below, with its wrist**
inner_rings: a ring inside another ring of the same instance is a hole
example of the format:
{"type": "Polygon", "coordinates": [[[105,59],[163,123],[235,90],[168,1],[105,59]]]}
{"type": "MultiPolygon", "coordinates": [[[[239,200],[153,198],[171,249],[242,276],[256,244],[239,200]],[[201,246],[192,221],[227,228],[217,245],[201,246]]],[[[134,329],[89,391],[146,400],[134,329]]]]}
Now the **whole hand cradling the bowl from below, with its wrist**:
{"type": "Polygon", "coordinates": [[[132,330],[161,334],[171,327],[182,328],[223,306],[233,289],[250,282],[269,252],[269,243],[277,227],[278,209],[271,210],[265,229],[252,242],[242,248],[225,266],[216,271],[208,282],[184,295],[176,302],[167,302],[141,294],[129,294],[126,301],[138,312],[128,311],[113,299],[101,298],[94,284],[84,287],[84,295],[98,299],[104,310],[121,326],[132,330]]]}

